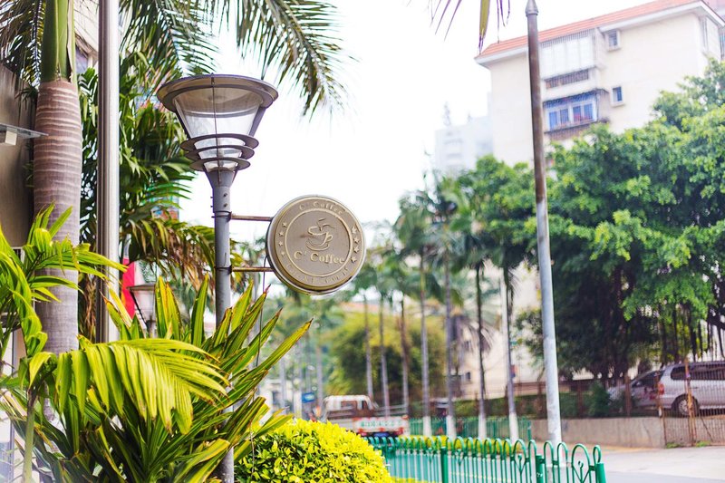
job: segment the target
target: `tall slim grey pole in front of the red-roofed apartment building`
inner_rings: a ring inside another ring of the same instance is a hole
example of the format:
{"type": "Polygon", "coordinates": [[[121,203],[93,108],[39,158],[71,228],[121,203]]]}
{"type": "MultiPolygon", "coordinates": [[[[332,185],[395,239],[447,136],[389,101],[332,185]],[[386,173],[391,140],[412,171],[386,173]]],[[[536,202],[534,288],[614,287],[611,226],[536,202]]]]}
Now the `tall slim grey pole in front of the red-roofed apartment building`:
{"type": "Polygon", "coordinates": [[[536,247],[541,277],[541,319],[544,332],[544,371],[546,373],[546,425],[549,440],[555,448],[561,442],[559,411],[559,379],[556,363],[556,330],[554,325],[554,293],[551,281],[549,252],[549,219],[546,204],[546,165],[544,159],[544,114],[541,105],[541,75],[539,73],[538,8],[528,0],[528,75],[531,89],[531,124],[534,138],[534,175],[536,179],[536,247]]]}

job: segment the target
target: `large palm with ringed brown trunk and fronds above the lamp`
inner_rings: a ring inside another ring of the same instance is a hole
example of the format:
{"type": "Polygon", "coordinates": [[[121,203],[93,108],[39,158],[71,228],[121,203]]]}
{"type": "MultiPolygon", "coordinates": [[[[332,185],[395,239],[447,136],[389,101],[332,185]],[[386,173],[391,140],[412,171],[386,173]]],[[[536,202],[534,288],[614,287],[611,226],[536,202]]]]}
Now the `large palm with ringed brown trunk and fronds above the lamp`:
{"type": "MultiPolygon", "coordinates": [[[[222,18],[236,31],[237,45],[260,59],[263,74],[276,67],[279,82],[291,82],[312,112],[341,99],[334,73],[341,49],[333,35],[335,9],[325,0],[206,0],[204,2],[121,2],[127,18],[124,52],[150,58],[144,72],[150,90],[189,66],[209,72],[214,43],[206,38],[222,18]],[[235,12],[237,15],[230,15],[235,12]],[[199,63],[200,61],[200,63],[199,63]]],[[[57,234],[77,243],[81,216],[82,120],[75,87],[75,24],[73,0],[0,0],[0,60],[17,74],[18,85],[37,88],[35,129],[48,136],[34,145],[36,213],[55,205],[72,209],[57,234]]],[[[57,217],[52,215],[52,219],[57,217]]],[[[67,270],[64,276],[74,281],[67,270]]],[[[48,333],[47,347],[60,353],[77,347],[77,293],[54,287],[61,304],[40,304],[48,333]]]]}

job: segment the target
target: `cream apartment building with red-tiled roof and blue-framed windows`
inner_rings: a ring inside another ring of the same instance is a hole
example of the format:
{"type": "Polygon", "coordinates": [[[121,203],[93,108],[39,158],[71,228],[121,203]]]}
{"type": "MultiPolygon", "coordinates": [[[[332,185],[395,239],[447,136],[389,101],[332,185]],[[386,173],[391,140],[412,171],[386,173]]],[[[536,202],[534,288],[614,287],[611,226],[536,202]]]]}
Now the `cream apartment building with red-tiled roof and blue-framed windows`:
{"type": "MultiPolygon", "coordinates": [[[[595,122],[641,126],[662,91],[677,89],[723,53],[722,0],[657,0],[539,33],[546,142],[595,122]]],[[[533,159],[527,37],[493,43],[477,61],[491,72],[493,153],[533,159]]]]}

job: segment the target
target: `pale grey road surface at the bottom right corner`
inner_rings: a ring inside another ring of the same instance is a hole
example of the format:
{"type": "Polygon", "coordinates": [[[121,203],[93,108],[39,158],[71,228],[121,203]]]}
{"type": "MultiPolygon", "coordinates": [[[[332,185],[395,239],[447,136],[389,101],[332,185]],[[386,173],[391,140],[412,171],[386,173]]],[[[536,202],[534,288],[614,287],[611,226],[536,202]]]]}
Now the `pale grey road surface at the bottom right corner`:
{"type": "Polygon", "coordinates": [[[725,446],[603,449],[607,483],[725,482],[725,446]]]}

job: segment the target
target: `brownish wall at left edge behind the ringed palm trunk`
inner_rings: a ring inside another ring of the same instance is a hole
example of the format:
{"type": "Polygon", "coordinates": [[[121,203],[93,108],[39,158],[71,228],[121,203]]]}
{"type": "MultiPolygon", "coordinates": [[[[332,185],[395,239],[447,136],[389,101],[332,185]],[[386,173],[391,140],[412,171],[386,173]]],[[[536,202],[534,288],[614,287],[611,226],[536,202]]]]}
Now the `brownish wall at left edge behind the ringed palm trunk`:
{"type": "MultiPolygon", "coordinates": [[[[14,82],[11,72],[0,67],[0,122],[29,128],[30,116],[21,109],[14,82]]],[[[15,146],[0,144],[0,226],[12,246],[24,245],[33,211],[31,190],[26,186],[29,154],[25,140],[17,140],[15,146]]]]}

